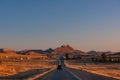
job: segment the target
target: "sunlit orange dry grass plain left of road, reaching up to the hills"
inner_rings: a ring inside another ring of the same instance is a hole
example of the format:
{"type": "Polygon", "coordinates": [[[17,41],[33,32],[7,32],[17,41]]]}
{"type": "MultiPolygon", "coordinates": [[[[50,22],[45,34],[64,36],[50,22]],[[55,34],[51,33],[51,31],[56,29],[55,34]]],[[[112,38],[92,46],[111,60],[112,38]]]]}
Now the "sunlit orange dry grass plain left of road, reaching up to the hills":
{"type": "Polygon", "coordinates": [[[41,60],[44,57],[46,56],[0,53],[0,76],[14,75],[31,69],[54,67],[55,60],[41,60]],[[25,59],[21,60],[21,58],[25,59]]]}

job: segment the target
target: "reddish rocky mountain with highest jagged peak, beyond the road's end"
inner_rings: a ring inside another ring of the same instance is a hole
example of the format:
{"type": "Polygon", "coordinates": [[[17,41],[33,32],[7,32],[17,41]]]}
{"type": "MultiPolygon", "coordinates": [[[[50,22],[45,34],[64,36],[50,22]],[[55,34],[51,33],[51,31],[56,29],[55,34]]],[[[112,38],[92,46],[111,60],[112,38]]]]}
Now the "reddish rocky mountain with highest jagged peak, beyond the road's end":
{"type": "Polygon", "coordinates": [[[61,47],[56,48],[53,51],[54,54],[66,54],[66,53],[72,53],[72,54],[81,54],[84,55],[85,52],[80,50],[75,50],[69,45],[62,45],[61,47]]]}

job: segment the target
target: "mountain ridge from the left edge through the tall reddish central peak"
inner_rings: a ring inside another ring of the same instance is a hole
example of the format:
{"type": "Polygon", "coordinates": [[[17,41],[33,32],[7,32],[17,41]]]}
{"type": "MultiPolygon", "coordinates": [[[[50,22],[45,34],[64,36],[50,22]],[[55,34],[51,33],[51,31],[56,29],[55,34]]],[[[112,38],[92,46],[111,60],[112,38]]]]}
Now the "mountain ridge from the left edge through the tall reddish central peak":
{"type": "Polygon", "coordinates": [[[11,49],[7,49],[7,48],[3,48],[0,49],[0,52],[2,53],[14,53],[14,54],[24,54],[24,55],[38,55],[38,54],[66,54],[66,53],[70,53],[70,54],[80,54],[80,55],[86,55],[85,52],[80,51],[80,50],[76,50],[74,48],[72,48],[69,45],[62,45],[60,47],[57,47],[56,49],[46,49],[46,50],[41,50],[41,49],[30,49],[30,50],[21,50],[21,51],[14,51],[11,49]]]}

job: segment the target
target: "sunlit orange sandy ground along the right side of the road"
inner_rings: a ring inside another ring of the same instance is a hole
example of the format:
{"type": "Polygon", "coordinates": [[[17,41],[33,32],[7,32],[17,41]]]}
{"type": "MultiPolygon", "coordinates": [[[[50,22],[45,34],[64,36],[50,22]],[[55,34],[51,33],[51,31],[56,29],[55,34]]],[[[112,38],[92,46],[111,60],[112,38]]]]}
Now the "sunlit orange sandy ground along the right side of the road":
{"type": "Polygon", "coordinates": [[[79,61],[66,61],[66,66],[78,70],[84,70],[90,73],[113,77],[120,80],[120,63],[114,64],[93,64],[79,63],[79,61]]]}

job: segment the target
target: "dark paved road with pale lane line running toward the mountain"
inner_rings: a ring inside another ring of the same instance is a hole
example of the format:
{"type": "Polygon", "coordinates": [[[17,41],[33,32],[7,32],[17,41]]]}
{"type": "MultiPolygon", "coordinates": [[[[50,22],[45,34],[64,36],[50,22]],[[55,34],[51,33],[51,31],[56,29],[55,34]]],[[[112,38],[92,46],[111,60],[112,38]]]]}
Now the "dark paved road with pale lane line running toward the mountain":
{"type": "Polygon", "coordinates": [[[116,80],[76,69],[54,70],[36,80],[116,80]]]}

